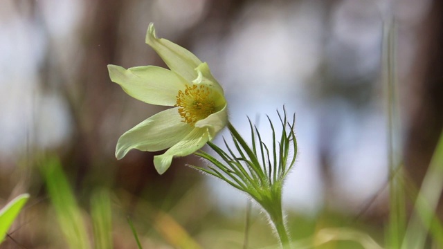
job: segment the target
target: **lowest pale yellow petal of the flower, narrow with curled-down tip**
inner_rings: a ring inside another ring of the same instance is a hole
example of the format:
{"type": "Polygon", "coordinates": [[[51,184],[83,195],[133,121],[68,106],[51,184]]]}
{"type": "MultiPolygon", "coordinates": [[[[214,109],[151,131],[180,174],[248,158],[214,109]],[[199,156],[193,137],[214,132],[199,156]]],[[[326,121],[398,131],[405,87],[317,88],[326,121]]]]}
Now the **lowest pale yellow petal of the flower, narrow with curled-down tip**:
{"type": "Polygon", "coordinates": [[[154,156],[154,166],[159,174],[165,173],[172,163],[174,156],[188,156],[195,151],[201,149],[209,140],[209,135],[206,129],[195,128],[188,136],[183,138],[176,145],[170,147],[165,154],[154,156]]]}

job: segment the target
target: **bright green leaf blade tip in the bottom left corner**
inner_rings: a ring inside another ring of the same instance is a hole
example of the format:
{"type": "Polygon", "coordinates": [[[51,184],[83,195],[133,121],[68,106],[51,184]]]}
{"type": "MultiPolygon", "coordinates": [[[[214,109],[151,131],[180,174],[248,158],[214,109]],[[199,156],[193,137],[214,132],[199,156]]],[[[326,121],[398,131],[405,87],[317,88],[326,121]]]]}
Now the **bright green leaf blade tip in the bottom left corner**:
{"type": "Polygon", "coordinates": [[[29,194],[20,194],[0,210],[0,243],[5,239],[6,232],[8,232],[28,199],[29,194]]]}

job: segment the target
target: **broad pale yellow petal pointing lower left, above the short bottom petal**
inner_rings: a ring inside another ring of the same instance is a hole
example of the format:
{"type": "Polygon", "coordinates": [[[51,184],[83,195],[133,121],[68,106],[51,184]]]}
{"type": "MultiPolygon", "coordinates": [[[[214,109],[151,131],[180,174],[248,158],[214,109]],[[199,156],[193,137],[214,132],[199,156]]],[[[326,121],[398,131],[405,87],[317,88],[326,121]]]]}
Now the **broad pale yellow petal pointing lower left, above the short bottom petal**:
{"type": "Polygon", "coordinates": [[[181,121],[178,108],[171,108],[151,116],[126,131],[117,142],[116,158],[121,159],[131,149],[159,151],[177,144],[195,129],[181,121]]]}

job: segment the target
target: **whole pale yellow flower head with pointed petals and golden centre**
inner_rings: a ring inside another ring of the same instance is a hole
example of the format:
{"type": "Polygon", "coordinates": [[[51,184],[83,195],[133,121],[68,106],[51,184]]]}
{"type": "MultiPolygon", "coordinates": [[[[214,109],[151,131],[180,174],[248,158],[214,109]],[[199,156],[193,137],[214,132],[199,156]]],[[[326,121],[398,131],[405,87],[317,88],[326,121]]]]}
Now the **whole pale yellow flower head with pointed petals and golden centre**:
{"type": "Polygon", "coordinates": [[[154,25],[147,29],[146,43],[170,70],[159,66],[125,69],[108,65],[109,77],[133,98],[148,104],[172,107],[156,113],[118,139],[116,158],[131,149],[159,151],[154,165],[163,174],[174,156],[188,156],[226,126],[226,100],[208,64],[167,39],[156,37],[154,25]]]}

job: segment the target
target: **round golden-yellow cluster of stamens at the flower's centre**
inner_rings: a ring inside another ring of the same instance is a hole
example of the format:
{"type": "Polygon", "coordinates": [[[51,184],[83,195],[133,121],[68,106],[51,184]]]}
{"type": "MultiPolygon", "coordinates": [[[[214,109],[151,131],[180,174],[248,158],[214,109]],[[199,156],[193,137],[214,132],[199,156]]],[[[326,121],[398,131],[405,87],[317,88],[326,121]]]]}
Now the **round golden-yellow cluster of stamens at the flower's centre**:
{"type": "Polygon", "coordinates": [[[185,91],[179,91],[177,104],[183,122],[195,124],[215,113],[215,103],[210,98],[210,89],[204,85],[186,86],[185,91]]]}

